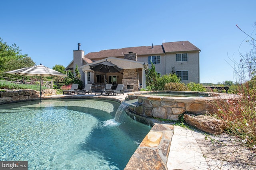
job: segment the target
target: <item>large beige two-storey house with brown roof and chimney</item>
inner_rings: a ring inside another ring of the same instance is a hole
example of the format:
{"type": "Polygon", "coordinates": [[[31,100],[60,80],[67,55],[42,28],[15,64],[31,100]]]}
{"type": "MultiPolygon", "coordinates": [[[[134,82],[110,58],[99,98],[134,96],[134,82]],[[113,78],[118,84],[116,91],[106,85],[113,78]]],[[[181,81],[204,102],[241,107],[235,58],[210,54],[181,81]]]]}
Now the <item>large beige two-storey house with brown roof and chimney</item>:
{"type": "Polygon", "coordinates": [[[199,54],[200,49],[189,41],[162,43],[141,47],[127,47],[122,49],[102,50],[84,55],[84,51],[74,50],[74,59],[65,70],[74,72],[76,65],[80,68],[81,78],[85,84],[112,83],[124,84],[126,91],[138,91],[146,88],[145,71],[155,65],[160,75],[175,72],[182,82],[199,83],[199,54]],[[90,65],[102,61],[111,61],[121,72],[104,73],[94,72],[90,65]],[[106,77],[107,76],[107,77],[106,77]]]}

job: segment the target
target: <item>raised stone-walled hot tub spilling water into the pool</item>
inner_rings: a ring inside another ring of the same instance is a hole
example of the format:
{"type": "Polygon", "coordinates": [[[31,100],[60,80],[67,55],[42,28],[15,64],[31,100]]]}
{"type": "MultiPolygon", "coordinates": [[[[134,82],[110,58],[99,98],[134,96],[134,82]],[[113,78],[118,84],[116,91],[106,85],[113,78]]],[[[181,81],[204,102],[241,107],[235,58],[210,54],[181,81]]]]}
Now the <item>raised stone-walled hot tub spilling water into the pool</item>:
{"type": "Polygon", "coordinates": [[[195,114],[212,113],[212,101],[237,100],[239,95],[213,92],[142,91],[128,94],[128,99],[138,98],[134,111],[148,117],[178,120],[185,111],[195,114]]]}

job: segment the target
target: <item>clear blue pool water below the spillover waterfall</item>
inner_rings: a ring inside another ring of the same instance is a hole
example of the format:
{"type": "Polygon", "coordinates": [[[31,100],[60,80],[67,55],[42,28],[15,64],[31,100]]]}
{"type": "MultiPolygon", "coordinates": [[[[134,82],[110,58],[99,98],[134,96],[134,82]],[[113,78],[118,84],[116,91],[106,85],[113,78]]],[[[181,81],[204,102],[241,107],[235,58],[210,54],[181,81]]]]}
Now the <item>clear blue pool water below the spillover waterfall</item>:
{"type": "Polygon", "coordinates": [[[28,169],[124,169],[150,127],[114,120],[118,102],[43,100],[0,105],[0,160],[28,169]]]}

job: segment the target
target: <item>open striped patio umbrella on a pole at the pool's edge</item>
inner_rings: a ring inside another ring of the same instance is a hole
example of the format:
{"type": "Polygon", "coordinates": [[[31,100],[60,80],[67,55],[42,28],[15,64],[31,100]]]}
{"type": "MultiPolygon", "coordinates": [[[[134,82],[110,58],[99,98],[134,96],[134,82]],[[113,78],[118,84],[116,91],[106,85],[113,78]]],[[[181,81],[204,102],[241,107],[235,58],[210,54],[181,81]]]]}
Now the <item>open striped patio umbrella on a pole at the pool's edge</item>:
{"type": "Polygon", "coordinates": [[[42,76],[43,77],[51,77],[51,76],[58,76],[58,77],[64,77],[66,74],[62,74],[56,70],[52,70],[51,68],[48,68],[46,66],[43,66],[42,64],[26,67],[26,68],[20,68],[18,70],[11,70],[6,71],[5,73],[9,74],[19,74],[24,76],[40,76],[40,102],[42,102],[42,76]]]}

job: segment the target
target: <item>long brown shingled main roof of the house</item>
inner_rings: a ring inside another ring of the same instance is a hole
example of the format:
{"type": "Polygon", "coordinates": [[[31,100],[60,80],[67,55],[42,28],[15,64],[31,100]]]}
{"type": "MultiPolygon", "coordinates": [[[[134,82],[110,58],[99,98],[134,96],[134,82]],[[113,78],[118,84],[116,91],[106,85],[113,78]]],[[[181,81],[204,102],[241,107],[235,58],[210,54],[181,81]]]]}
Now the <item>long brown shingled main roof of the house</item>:
{"type": "Polygon", "coordinates": [[[198,49],[189,41],[179,41],[171,43],[162,43],[162,45],[153,45],[153,48],[152,46],[141,46],[127,47],[122,49],[102,50],[99,52],[88,53],[84,57],[87,59],[104,59],[107,57],[123,58],[124,54],[128,54],[129,52],[137,53],[137,55],[156,55],[177,51],[200,51],[200,49],[198,49]]]}

